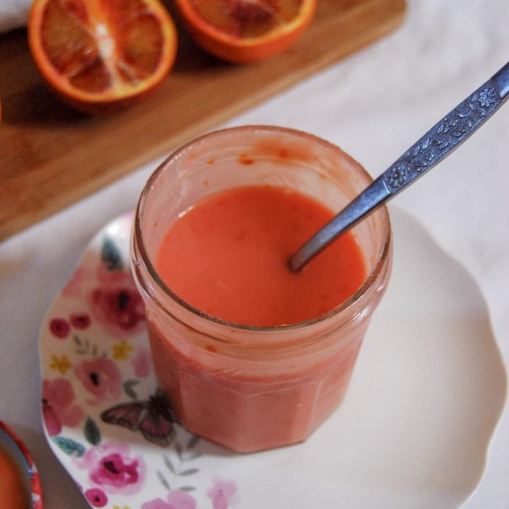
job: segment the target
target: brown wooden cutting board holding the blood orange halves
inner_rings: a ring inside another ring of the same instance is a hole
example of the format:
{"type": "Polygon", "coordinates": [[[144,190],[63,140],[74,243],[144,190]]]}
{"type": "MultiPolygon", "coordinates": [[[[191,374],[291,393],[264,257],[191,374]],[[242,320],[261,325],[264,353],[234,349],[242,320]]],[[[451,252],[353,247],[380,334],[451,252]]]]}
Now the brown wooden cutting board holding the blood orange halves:
{"type": "Polygon", "coordinates": [[[250,66],[209,57],[179,25],[163,87],[110,117],[60,103],[35,69],[25,30],[1,35],[0,240],[374,42],[402,23],[405,8],[405,0],[319,0],[296,46],[250,66]]]}

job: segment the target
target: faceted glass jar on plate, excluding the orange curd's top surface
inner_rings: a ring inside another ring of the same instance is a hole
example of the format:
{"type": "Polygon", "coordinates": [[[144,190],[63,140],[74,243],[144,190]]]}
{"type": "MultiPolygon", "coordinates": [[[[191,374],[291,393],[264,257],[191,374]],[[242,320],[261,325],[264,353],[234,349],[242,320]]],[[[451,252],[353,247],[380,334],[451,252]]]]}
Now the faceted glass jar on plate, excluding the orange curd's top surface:
{"type": "Polygon", "coordinates": [[[390,277],[392,238],[381,207],[352,230],[367,277],[351,298],[307,322],[252,327],[193,308],[160,279],[154,259],[170,224],[232,187],[290,187],[339,211],[370,182],[327,141],[264,126],[195,139],[149,178],[136,209],[131,264],[158,382],[188,431],[238,452],[305,440],[344,397],[390,277]]]}

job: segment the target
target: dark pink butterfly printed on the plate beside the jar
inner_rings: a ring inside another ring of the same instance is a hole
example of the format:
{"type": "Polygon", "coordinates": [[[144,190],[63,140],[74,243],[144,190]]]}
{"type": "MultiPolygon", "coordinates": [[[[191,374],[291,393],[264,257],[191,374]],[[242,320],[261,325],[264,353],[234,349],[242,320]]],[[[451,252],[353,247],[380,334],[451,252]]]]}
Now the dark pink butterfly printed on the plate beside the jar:
{"type": "Polygon", "coordinates": [[[147,400],[111,406],[103,411],[101,419],[105,423],[139,431],[146,440],[161,447],[168,447],[175,438],[177,420],[168,396],[160,388],[147,400]]]}

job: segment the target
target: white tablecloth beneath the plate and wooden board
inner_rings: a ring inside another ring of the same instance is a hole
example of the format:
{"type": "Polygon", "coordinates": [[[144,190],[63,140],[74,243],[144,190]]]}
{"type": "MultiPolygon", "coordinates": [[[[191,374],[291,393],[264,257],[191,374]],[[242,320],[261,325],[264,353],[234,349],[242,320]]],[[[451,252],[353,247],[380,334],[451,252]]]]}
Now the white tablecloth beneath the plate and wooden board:
{"type": "MultiPolygon", "coordinates": [[[[233,119],[279,124],[338,144],[376,176],[509,60],[509,2],[409,0],[402,28],[233,119]]],[[[468,269],[509,363],[509,107],[394,199],[468,269]]],[[[40,465],[49,509],[87,508],[45,443],[37,337],[90,238],[134,207],[156,161],[0,245],[0,419],[40,465]]],[[[509,410],[464,508],[509,507],[509,410]]],[[[347,505],[346,505],[347,506],[347,505]]],[[[346,507],[345,506],[345,507],[346,507]]]]}

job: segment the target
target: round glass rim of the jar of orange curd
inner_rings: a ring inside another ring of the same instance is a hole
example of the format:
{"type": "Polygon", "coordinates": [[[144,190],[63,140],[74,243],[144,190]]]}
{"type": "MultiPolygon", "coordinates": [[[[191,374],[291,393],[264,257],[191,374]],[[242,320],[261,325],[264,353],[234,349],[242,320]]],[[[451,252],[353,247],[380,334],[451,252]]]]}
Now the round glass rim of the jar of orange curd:
{"type": "Polygon", "coordinates": [[[136,211],[134,214],[134,225],[133,225],[133,234],[132,234],[132,242],[136,246],[136,249],[139,250],[139,255],[141,257],[141,260],[144,264],[144,267],[146,271],[148,272],[148,275],[151,277],[152,281],[156,283],[158,288],[163,291],[165,296],[168,296],[173,302],[177,303],[177,305],[180,305],[182,308],[187,310],[188,312],[191,312],[192,315],[199,317],[202,320],[205,320],[206,322],[211,322],[213,324],[222,326],[222,327],[228,327],[229,329],[236,329],[238,331],[244,331],[244,332],[286,332],[286,331],[293,331],[293,330],[300,330],[306,327],[310,327],[315,324],[320,324],[322,322],[325,322],[329,320],[332,317],[336,317],[337,315],[341,315],[341,313],[345,312],[349,308],[351,308],[352,305],[357,303],[361,298],[368,293],[370,288],[373,287],[373,284],[375,281],[379,278],[382,271],[387,266],[387,260],[390,256],[390,250],[391,250],[391,244],[392,244],[392,231],[390,228],[390,217],[389,213],[387,211],[387,206],[383,205],[381,206],[377,211],[374,213],[380,213],[382,214],[382,225],[384,226],[384,232],[382,232],[382,235],[385,234],[385,240],[382,245],[382,249],[378,252],[378,258],[376,259],[375,263],[373,264],[372,269],[370,270],[369,274],[365,277],[363,283],[353,295],[351,295],[348,299],[344,300],[342,303],[337,305],[335,308],[332,308],[332,310],[329,310],[328,312],[324,313],[323,315],[319,315],[317,317],[311,318],[309,320],[305,320],[303,322],[296,322],[291,324],[281,324],[281,325],[275,325],[275,326],[259,326],[259,325],[247,325],[247,324],[241,324],[238,322],[230,322],[228,320],[223,320],[222,318],[215,317],[213,315],[209,315],[208,313],[199,310],[198,308],[195,308],[193,305],[187,302],[187,300],[184,300],[181,298],[175,291],[173,291],[166,283],[163,281],[163,279],[160,278],[158,271],[156,271],[156,268],[154,267],[153,263],[151,262],[151,258],[148,255],[148,252],[145,247],[144,243],[144,237],[142,233],[141,228],[141,214],[143,212],[144,208],[144,201],[146,197],[148,196],[148,193],[151,191],[154,182],[158,179],[159,175],[165,167],[172,161],[177,158],[180,158],[184,153],[186,153],[189,148],[192,146],[195,146],[196,144],[199,144],[201,141],[204,141],[206,139],[213,139],[216,136],[224,136],[225,134],[234,134],[235,132],[239,131],[267,131],[267,132],[273,132],[273,133],[283,133],[283,134],[290,134],[293,136],[299,136],[303,137],[305,139],[308,139],[310,141],[313,141],[314,143],[318,143],[324,147],[329,147],[334,151],[341,151],[342,155],[346,157],[348,160],[350,160],[354,165],[356,165],[356,168],[361,172],[363,177],[367,177],[370,182],[373,181],[373,177],[369,175],[369,173],[363,168],[363,166],[359,163],[357,163],[356,160],[354,160],[349,154],[345,153],[341,150],[337,145],[332,144],[331,142],[324,140],[320,138],[319,136],[315,136],[314,134],[309,134],[305,131],[300,131],[298,129],[292,129],[288,127],[278,127],[278,126],[272,126],[272,125],[264,125],[264,124],[253,124],[253,125],[245,125],[245,126],[238,126],[238,127],[227,127],[224,129],[218,129],[216,131],[211,131],[207,134],[203,134],[201,136],[198,136],[197,138],[192,139],[192,141],[187,142],[187,144],[184,144],[180,146],[180,148],[177,148],[175,151],[173,151],[170,156],[165,158],[160,165],[158,165],[158,168],[154,170],[152,175],[148,178],[146,184],[144,185],[144,188],[141,191],[141,195],[138,201],[138,204],[136,205],[136,211]]]}

